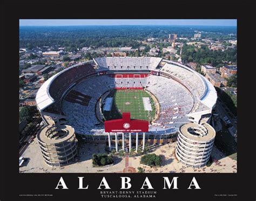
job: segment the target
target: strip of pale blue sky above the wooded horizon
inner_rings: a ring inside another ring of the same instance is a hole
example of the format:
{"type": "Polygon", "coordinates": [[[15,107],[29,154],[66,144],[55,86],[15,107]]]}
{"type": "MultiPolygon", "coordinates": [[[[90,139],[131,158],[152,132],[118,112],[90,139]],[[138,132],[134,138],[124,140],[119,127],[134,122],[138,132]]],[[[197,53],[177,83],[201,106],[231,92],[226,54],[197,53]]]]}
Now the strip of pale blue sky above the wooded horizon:
{"type": "Polygon", "coordinates": [[[19,19],[19,26],[207,25],[237,26],[237,19],[19,19]]]}

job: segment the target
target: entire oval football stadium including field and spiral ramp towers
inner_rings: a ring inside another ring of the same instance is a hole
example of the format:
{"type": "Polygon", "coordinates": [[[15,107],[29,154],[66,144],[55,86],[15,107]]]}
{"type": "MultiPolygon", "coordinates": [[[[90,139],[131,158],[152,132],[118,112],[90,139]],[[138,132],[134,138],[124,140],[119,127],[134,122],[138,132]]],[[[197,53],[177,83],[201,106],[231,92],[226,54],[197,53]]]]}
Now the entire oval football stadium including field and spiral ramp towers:
{"type": "MultiPolygon", "coordinates": [[[[93,58],[53,75],[36,95],[45,127],[70,126],[78,140],[106,143],[110,151],[177,141],[176,157],[194,167],[210,157],[215,131],[208,122],[216,101],[215,88],[202,75],[157,57],[93,58]],[[104,122],[123,113],[149,122],[148,131],[105,132],[104,122]]],[[[42,152],[47,149],[41,143],[42,152]]],[[[55,164],[68,164],[76,153],[70,149],[55,164]]]]}

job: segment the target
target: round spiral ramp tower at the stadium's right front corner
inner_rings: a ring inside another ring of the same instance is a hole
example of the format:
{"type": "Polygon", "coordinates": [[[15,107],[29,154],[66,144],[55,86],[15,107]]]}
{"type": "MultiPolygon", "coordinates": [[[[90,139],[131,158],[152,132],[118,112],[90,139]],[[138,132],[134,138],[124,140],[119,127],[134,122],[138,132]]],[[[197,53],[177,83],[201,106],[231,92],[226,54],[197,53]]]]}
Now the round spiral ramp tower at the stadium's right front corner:
{"type": "Polygon", "coordinates": [[[207,164],[214,143],[215,130],[208,123],[186,123],[179,128],[176,157],[195,168],[207,164]]]}

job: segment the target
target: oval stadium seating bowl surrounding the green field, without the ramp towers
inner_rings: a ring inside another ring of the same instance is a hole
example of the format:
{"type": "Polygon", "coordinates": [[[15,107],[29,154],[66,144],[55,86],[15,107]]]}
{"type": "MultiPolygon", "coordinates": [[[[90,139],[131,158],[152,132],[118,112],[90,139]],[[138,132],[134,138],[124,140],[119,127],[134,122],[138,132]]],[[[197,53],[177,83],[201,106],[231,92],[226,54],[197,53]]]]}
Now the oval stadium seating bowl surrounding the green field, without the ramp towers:
{"type": "Polygon", "coordinates": [[[205,77],[177,61],[157,57],[93,58],[53,75],[44,82],[36,95],[37,109],[45,124],[55,124],[58,127],[67,121],[81,140],[104,144],[108,142],[109,147],[116,150],[121,146],[123,149],[123,141],[129,143],[129,148],[132,141],[132,146],[137,144],[140,149],[143,147],[144,137],[145,144],[149,145],[174,142],[181,124],[191,120],[199,123],[206,115],[211,116],[216,101],[215,88],[205,77]],[[77,87],[82,85],[85,87],[78,93],[77,87]],[[97,90],[87,91],[93,88],[97,90]],[[105,103],[99,102],[99,105],[96,105],[97,100],[109,93],[110,89],[127,88],[147,88],[152,92],[152,97],[156,98],[154,102],[158,110],[157,119],[150,122],[149,131],[145,132],[145,136],[144,131],[136,129],[131,130],[131,135],[120,130],[106,133],[104,127],[98,127],[96,131],[96,123],[105,122],[100,113],[100,109],[104,109],[105,105],[100,105],[106,103],[106,99],[102,99],[105,103]],[[63,101],[64,98],[69,100],[63,101]],[[186,106],[183,103],[186,103],[186,106]],[[166,111],[168,115],[160,113],[160,108],[166,105],[171,108],[166,111]],[[180,115],[181,111],[186,112],[180,115]]]}

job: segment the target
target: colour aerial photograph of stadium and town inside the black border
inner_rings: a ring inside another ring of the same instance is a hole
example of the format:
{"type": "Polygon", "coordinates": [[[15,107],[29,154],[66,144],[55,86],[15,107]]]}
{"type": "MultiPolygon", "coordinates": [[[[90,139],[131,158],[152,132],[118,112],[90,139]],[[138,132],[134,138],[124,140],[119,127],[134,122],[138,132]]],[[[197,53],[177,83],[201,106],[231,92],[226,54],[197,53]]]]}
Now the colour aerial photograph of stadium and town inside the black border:
{"type": "Polygon", "coordinates": [[[237,19],[19,19],[19,173],[237,173],[237,19]]]}

